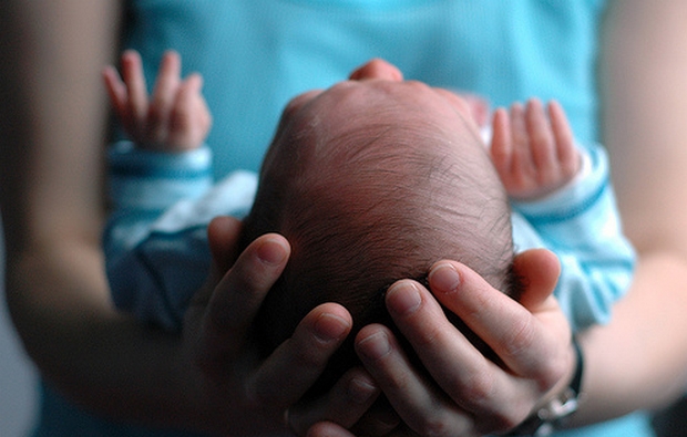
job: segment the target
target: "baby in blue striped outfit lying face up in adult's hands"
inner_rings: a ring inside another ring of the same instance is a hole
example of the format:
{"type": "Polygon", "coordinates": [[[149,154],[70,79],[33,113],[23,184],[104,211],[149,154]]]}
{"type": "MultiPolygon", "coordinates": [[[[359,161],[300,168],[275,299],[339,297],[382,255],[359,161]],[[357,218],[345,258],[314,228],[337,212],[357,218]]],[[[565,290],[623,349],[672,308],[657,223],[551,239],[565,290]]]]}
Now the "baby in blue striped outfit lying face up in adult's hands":
{"type": "MultiPolygon", "coordinates": [[[[131,101],[147,95],[135,95],[145,93],[135,85],[142,74],[135,54],[123,61],[124,83],[113,70],[105,79],[126,121],[135,118],[131,101]]],[[[147,115],[137,131],[124,124],[134,143],[115,145],[110,155],[116,209],[105,253],[115,303],[178,329],[209,266],[205,227],[217,215],[234,215],[245,217],[242,249],[265,232],[291,244],[256,325],[266,352],[322,302],[342,303],[355,329],[383,322],[386,288],[401,278],[422,280],[440,259],[470,266],[516,299],[514,251],[534,247],[561,259],[556,295],[574,329],[604,322],[629,283],[634,252],[621,232],[603,149],[577,146],[562,108],[552,103],[546,114],[537,101],[498,110],[488,149],[474,105],[403,82],[400,72],[376,79],[380,65],[393,70],[371,61],[350,81],[293,100],[259,183],[236,173],[211,188],[211,156],[201,146],[209,114],[199,81],[182,81],[178,58],[167,53],[150,104],[173,102],[156,110],[167,114],[166,128],[150,128],[160,124],[147,115]],[[174,114],[193,115],[182,117],[188,125],[181,131],[202,135],[172,135],[180,127],[174,114]],[[152,132],[167,139],[141,136],[152,132]],[[188,136],[193,144],[166,144],[188,136]]],[[[332,365],[345,368],[351,360],[345,346],[332,365]]]]}

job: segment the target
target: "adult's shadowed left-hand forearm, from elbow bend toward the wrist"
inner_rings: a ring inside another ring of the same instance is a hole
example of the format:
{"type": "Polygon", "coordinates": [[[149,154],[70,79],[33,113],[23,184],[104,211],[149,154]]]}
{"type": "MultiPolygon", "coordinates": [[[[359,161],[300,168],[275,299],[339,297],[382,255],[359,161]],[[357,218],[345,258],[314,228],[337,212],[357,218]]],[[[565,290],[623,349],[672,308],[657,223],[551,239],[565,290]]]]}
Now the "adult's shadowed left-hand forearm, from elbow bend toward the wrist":
{"type": "Polygon", "coordinates": [[[101,272],[98,248],[73,242],[38,248],[9,266],[12,316],[30,356],[89,410],[197,425],[201,384],[183,362],[180,339],[115,312],[101,272]]]}

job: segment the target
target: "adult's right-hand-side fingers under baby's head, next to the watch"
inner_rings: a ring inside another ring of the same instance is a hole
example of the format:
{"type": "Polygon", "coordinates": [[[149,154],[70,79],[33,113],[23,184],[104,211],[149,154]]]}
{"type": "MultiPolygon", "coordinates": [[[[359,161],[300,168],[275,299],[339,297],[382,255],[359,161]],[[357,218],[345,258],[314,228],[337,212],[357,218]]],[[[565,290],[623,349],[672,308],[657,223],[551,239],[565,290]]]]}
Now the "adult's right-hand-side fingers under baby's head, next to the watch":
{"type": "MultiPolygon", "coordinates": [[[[555,262],[553,266],[557,268],[555,262]]],[[[557,270],[537,287],[555,283],[555,274],[557,270]]],[[[536,280],[532,272],[527,275],[536,280]]],[[[566,331],[564,316],[556,305],[539,304],[551,302],[545,295],[553,285],[527,296],[539,306],[537,318],[459,263],[435,266],[430,285],[476,337],[468,339],[455,329],[417,282],[396,283],[387,292],[387,306],[441,391],[422,383],[422,375],[403,363],[402,353],[389,340],[390,333],[383,335],[383,331],[382,335],[376,333],[378,346],[369,347],[376,360],[366,361],[360,355],[366,368],[416,431],[493,433],[511,428],[565,376],[571,364],[566,347],[570,329],[566,331]],[[542,316],[542,311],[553,315],[542,316]]]]}

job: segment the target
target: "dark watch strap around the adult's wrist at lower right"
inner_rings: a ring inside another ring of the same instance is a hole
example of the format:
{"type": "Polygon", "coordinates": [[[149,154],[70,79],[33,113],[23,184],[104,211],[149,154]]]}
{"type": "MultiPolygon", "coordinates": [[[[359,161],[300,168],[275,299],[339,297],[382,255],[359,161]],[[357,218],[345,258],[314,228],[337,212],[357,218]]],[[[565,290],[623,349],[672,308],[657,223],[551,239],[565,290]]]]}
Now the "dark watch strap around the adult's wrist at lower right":
{"type": "Polygon", "coordinates": [[[577,410],[582,389],[582,374],[584,372],[584,357],[580,344],[573,337],[573,347],[577,364],[571,384],[555,398],[530,416],[506,436],[535,436],[544,437],[560,429],[565,418],[577,410]]]}

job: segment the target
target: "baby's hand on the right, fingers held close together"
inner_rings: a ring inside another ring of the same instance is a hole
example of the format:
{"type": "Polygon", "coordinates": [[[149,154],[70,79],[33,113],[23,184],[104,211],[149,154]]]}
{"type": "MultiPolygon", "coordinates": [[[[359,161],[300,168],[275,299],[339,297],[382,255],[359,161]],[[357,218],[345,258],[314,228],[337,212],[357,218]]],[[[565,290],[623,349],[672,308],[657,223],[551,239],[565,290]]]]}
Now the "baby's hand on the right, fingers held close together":
{"type": "Polygon", "coordinates": [[[561,105],[547,113],[539,100],[494,112],[491,157],[513,199],[535,200],[563,187],[578,171],[580,152],[561,105]]]}

